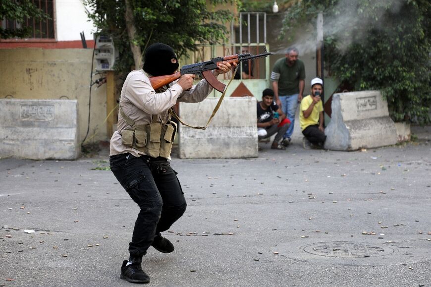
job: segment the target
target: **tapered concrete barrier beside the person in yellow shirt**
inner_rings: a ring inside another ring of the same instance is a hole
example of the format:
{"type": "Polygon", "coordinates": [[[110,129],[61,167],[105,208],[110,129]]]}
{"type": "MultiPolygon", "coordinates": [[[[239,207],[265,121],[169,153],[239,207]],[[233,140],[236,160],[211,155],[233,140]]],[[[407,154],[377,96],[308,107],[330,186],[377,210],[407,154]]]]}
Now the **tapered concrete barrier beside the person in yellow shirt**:
{"type": "Polygon", "coordinates": [[[378,91],[334,94],[325,149],[353,151],[397,143],[395,124],[378,91]]]}

